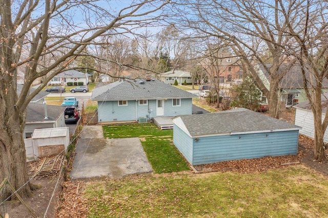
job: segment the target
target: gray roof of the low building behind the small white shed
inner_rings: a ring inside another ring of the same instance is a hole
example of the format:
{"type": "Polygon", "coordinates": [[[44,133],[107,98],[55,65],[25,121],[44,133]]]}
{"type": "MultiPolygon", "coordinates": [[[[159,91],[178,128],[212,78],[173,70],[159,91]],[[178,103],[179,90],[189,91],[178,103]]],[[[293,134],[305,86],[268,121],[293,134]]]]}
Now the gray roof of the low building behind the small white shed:
{"type": "Polygon", "coordinates": [[[45,120],[45,106],[30,103],[27,106],[26,123],[56,121],[64,113],[64,106],[47,105],[48,119],[45,120]]]}

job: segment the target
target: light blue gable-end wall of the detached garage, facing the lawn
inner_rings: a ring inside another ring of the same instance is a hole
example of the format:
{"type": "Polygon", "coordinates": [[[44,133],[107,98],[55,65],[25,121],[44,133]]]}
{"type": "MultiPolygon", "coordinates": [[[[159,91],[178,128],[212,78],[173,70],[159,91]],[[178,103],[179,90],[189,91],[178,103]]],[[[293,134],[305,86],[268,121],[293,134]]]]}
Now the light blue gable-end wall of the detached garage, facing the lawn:
{"type": "Polygon", "coordinates": [[[192,163],[193,157],[193,139],[183,132],[176,124],[173,124],[173,144],[185,156],[189,163],[192,163]]]}

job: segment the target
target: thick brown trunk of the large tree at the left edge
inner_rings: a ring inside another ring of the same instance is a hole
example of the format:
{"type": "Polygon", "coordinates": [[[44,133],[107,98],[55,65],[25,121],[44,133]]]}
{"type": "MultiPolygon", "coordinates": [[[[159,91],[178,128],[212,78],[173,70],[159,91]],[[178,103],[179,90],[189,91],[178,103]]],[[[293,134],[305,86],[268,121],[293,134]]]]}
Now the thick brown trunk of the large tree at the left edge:
{"type": "MultiPolygon", "coordinates": [[[[7,90],[6,95],[0,95],[0,183],[8,178],[15,190],[19,189],[18,193],[26,197],[31,193],[32,185],[28,183],[23,139],[25,115],[15,104],[15,88],[7,89],[7,83],[0,86],[1,90],[7,90]]],[[[0,190],[0,200],[7,199],[11,194],[11,189],[5,185],[0,190]]]]}

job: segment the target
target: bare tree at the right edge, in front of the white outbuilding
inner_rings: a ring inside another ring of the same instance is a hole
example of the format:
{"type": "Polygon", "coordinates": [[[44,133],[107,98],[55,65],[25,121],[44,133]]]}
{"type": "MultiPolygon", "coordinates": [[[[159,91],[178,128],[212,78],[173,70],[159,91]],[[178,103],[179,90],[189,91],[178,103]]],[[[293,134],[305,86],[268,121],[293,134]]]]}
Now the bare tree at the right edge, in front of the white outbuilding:
{"type": "Polygon", "coordinates": [[[296,40],[289,51],[297,57],[302,69],[303,85],[314,118],[314,160],[321,162],[325,160],[323,136],[328,125],[328,113],[322,117],[321,105],[323,80],[328,78],[328,3],[296,3],[294,7],[297,7],[297,11],[284,7],[283,2],[279,1],[289,24],[285,34],[296,40]]]}

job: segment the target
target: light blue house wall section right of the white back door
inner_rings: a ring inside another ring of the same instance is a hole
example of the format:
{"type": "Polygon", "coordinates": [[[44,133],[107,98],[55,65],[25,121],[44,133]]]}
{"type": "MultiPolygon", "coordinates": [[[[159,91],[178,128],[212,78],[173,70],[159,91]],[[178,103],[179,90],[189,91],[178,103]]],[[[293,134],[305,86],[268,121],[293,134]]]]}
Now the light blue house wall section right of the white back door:
{"type": "Polygon", "coordinates": [[[177,116],[193,113],[192,98],[180,99],[180,106],[172,106],[172,99],[164,101],[164,116],[177,116]]]}

